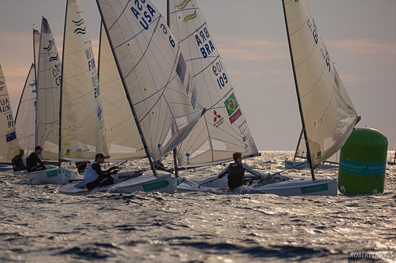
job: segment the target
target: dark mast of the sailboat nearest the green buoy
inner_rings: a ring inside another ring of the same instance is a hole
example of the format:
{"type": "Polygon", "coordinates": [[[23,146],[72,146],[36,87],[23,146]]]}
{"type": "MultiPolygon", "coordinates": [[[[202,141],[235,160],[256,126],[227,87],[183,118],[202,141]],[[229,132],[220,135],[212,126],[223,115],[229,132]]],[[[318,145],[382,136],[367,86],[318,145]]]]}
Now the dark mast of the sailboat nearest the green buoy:
{"type": "MultiPolygon", "coordinates": [[[[293,59],[293,51],[292,51],[292,45],[291,45],[291,43],[290,43],[290,36],[289,36],[289,25],[288,25],[288,20],[287,20],[287,18],[286,18],[285,0],[282,0],[282,6],[283,6],[283,15],[284,15],[284,17],[285,17],[286,33],[287,33],[287,35],[288,35],[288,43],[289,43],[290,58],[292,59],[292,68],[293,68],[293,75],[294,75],[294,83],[295,83],[296,91],[297,91],[298,109],[299,109],[300,117],[301,117],[302,132],[304,133],[304,140],[305,140],[305,147],[306,147],[306,157],[307,157],[308,162],[309,162],[309,169],[311,170],[311,177],[312,177],[312,180],[315,180],[315,173],[314,173],[314,171],[313,171],[312,159],[311,159],[311,150],[309,149],[308,137],[306,136],[305,122],[304,122],[304,114],[302,113],[300,94],[299,94],[299,91],[298,91],[298,83],[297,83],[297,76],[296,76],[295,64],[294,64],[294,59],[293,59]]],[[[301,138],[301,137],[300,137],[300,138],[301,138]]]]}

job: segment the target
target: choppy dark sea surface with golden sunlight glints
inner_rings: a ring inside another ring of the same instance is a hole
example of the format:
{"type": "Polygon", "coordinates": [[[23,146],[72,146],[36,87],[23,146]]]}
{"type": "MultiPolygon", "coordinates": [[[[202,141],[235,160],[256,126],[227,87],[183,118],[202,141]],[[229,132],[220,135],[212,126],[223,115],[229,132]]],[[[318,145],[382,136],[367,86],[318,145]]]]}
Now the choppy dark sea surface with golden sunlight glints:
{"type": "MultiPolygon", "coordinates": [[[[275,172],[292,156],[263,152],[247,163],[275,172]]],[[[337,177],[335,170],[319,174],[337,177]]],[[[0,262],[329,262],[348,261],[351,252],[388,252],[393,258],[383,260],[396,259],[395,166],[387,168],[384,193],[359,196],[67,196],[59,186],[25,183],[11,172],[0,175],[0,262]]]]}

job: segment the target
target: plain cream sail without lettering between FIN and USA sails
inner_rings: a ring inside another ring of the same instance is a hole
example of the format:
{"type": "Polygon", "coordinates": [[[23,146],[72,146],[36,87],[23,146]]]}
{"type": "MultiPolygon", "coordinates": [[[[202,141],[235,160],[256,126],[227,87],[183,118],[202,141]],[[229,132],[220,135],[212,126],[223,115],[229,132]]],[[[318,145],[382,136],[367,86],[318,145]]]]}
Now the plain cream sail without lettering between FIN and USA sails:
{"type": "Polygon", "coordinates": [[[129,110],[124,86],[103,24],[100,27],[98,71],[110,160],[133,160],[145,157],[146,151],[132,112],[129,110]]]}

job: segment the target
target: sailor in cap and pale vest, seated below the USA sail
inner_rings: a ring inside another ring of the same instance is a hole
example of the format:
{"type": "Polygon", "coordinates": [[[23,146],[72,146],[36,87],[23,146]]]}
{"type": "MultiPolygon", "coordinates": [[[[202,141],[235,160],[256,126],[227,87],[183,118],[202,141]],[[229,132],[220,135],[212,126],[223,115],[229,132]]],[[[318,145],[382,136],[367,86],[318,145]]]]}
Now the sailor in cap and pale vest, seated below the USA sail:
{"type": "Polygon", "coordinates": [[[115,170],[117,167],[110,167],[106,171],[102,171],[100,164],[104,162],[103,154],[98,153],[95,155],[95,161],[87,165],[84,171],[84,184],[88,190],[92,190],[96,187],[110,186],[114,184],[114,178],[111,176],[116,174],[118,171],[115,170]],[[114,171],[113,171],[114,170],[114,171]]]}

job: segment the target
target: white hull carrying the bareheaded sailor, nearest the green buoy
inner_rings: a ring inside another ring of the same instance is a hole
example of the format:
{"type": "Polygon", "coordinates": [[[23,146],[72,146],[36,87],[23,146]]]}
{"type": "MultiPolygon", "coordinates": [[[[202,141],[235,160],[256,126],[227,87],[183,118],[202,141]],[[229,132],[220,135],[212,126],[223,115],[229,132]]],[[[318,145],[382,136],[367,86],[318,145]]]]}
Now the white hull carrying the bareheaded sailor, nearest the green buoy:
{"type": "MultiPolygon", "coordinates": [[[[186,182],[177,187],[177,191],[204,191],[208,188],[213,190],[228,189],[226,177],[216,179],[216,176],[192,179],[199,188],[190,186],[186,182]],[[214,180],[216,179],[216,180],[214,180]],[[214,181],[213,181],[214,180],[214,181]]],[[[268,183],[262,186],[252,187],[252,193],[273,193],[281,196],[296,196],[296,195],[332,195],[337,196],[337,180],[315,180],[312,181],[310,177],[306,176],[278,176],[271,177],[270,180],[276,180],[276,183],[268,183]],[[283,181],[285,180],[285,181],[283,181]]],[[[257,184],[259,180],[253,180],[257,184]]],[[[264,180],[266,182],[266,180],[264,180]]],[[[269,182],[269,181],[268,181],[269,182]]]]}

